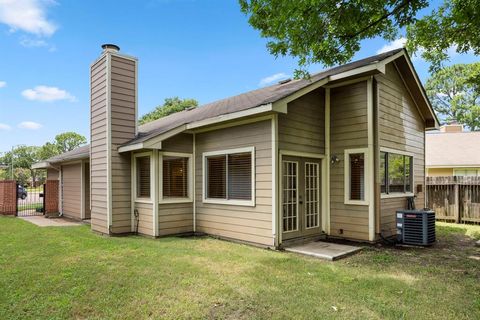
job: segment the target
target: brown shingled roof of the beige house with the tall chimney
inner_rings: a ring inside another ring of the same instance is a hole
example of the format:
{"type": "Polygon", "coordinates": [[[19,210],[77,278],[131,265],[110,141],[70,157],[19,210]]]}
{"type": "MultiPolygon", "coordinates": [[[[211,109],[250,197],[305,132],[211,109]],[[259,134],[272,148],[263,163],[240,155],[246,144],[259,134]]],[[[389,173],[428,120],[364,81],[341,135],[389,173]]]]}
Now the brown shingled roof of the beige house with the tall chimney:
{"type": "MultiPolygon", "coordinates": [[[[283,81],[272,86],[260,88],[226,99],[211,102],[198,108],[184,110],[169,115],[167,117],[149,122],[147,124],[139,126],[138,134],[136,135],[136,137],[121,146],[121,148],[127,148],[129,146],[135,146],[139,144],[141,145],[147,140],[173,131],[176,128],[185,130],[186,126],[192,123],[201,123],[202,121],[207,119],[212,119],[233,113],[248,111],[257,107],[271,105],[273,103],[281,101],[284,98],[292,96],[295,93],[301,91],[302,89],[308,88],[315,83],[319,83],[322,80],[334,80],[334,77],[338,77],[340,75],[345,75],[346,77],[347,75],[349,75],[349,72],[353,72],[354,70],[360,70],[361,72],[365,72],[366,74],[368,74],[368,72],[372,72],[374,70],[374,68],[372,69],[370,67],[376,67],[378,63],[385,63],[384,61],[391,61],[392,59],[403,59],[402,61],[404,62],[404,66],[403,69],[401,69],[404,70],[403,72],[406,72],[405,70],[410,70],[412,78],[414,78],[416,80],[416,83],[419,84],[418,76],[415,73],[415,70],[413,70],[413,67],[411,67],[408,54],[404,49],[396,49],[365,59],[347,63],[338,67],[323,70],[321,72],[311,75],[309,79],[283,81]],[[182,126],[184,127],[182,128],[182,126]]],[[[435,116],[435,113],[433,112],[433,109],[431,108],[430,102],[424,94],[424,89],[421,84],[415,86],[419,87],[416,88],[417,96],[421,97],[421,99],[424,99],[422,109],[424,117],[431,119],[430,123],[433,123],[432,127],[435,127],[438,124],[438,120],[435,116]]],[[[79,154],[83,154],[83,156],[88,156],[87,153],[87,149],[79,151],[79,154]]],[[[57,160],[58,157],[54,157],[52,159],[48,159],[47,162],[57,160]]]]}

